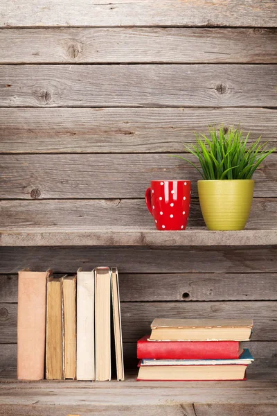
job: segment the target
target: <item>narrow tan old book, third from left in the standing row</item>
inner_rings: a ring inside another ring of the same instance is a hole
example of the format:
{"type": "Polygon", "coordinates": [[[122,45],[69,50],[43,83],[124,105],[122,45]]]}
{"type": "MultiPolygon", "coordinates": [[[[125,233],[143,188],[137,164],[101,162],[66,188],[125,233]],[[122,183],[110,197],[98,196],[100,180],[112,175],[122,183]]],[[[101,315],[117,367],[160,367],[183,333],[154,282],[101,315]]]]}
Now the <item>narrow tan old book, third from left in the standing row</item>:
{"type": "Polygon", "coordinates": [[[76,277],[62,277],[64,378],[76,378],[76,277]]]}

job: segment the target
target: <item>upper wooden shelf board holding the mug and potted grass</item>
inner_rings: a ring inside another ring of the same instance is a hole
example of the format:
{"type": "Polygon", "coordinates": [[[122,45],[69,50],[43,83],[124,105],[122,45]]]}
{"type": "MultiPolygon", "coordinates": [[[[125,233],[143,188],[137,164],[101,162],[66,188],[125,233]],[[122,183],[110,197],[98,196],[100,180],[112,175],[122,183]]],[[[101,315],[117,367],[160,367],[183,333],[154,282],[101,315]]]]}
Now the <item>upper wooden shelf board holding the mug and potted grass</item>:
{"type": "Polygon", "coordinates": [[[155,229],[18,228],[0,230],[0,246],[277,245],[277,229],[157,231],[155,229]]]}

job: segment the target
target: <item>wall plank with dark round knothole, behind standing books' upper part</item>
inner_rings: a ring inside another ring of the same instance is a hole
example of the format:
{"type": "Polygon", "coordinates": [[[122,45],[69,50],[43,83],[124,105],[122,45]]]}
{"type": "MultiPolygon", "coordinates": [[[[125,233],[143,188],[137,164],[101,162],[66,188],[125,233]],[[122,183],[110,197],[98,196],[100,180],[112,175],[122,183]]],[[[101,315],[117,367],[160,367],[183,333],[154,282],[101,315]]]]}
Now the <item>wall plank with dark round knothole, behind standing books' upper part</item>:
{"type": "MultiPolygon", "coordinates": [[[[119,283],[121,302],[277,300],[276,273],[120,273],[119,283]]],[[[0,275],[0,302],[17,302],[17,275],[0,275]]]]}

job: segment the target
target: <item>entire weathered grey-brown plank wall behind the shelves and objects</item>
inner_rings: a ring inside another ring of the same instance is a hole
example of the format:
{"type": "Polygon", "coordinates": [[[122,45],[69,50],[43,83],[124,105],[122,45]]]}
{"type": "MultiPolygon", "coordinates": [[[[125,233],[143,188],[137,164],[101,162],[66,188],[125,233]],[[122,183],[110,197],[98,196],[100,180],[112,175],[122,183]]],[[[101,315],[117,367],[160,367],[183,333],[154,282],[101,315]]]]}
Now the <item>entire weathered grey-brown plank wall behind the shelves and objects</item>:
{"type": "MultiPolygon", "coordinates": [[[[151,179],[193,180],[207,125],[276,146],[276,1],[10,2],[0,13],[0,227],[154,227],[151,179]],[[190,157],[190,156],[189,156],[190,157]]],[[[277,227],[277,153],[247,225],[277,227]]],[[[251,317],[257,367],[277,365],[277,248],[1,248],[0,376],[15,376],[17,271],[118,266],[125,360],[157,316],[251,317]]]]}

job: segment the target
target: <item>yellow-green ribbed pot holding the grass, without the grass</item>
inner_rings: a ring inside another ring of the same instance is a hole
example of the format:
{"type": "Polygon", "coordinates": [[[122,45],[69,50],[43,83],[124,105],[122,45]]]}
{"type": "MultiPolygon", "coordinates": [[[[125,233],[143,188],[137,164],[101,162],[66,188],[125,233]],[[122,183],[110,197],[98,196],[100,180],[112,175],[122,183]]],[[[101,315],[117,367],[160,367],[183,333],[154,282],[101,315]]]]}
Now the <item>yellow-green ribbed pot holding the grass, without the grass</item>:
{"type": "Polygon", "coordinates": [[[202,215],[208,229],[244,229],[251,210],[254,181],[199,180],[202,215]]]}

